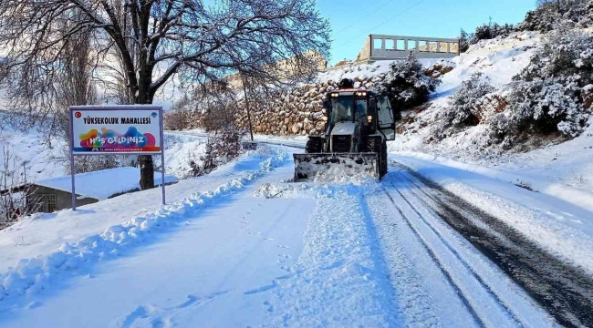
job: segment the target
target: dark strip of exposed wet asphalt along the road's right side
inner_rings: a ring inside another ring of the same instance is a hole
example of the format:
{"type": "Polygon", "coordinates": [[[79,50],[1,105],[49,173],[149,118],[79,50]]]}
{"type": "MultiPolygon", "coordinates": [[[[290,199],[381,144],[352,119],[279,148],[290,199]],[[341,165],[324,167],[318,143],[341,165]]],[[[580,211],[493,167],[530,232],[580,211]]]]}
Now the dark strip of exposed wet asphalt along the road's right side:
{"type": "Polygon", "coordinates": [[[586,272],[557,259],[519,231],[432,181],[409,169],[406,172],[414,179],[402,176],[424,194],[427,204],[432,201],[430,207],[442,220],[496,263],[559,323],[593,326],[593,280],[586,272]]]}

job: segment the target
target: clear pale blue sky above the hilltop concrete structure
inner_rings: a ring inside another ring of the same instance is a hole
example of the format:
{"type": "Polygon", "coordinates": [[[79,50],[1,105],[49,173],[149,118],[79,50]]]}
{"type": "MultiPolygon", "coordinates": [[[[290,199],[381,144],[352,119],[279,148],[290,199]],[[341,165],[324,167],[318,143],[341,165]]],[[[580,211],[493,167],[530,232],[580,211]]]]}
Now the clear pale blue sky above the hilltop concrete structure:
{"type": "Polygon", "coordinates": [[[321,15],[329,18],[334,40],[330,64],[354,59],[365,36],[459,36],[488,22],[518,23],[536,0],[317,0],[321,15]]]}

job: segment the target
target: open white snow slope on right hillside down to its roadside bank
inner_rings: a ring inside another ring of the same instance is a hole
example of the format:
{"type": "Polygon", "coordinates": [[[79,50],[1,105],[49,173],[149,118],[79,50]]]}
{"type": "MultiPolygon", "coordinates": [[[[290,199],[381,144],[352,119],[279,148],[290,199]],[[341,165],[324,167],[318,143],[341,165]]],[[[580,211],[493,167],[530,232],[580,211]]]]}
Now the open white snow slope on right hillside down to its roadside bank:
{"type": "Polygon", "coordinates": [[[565,200],[583,203],[593,194],[593,121],[572,140],[533,136],[515,149],[482,147],[487,125],[464,128],[458,133],[432,142],[435,117],[474,72],[489,77],[494,88],[511,82],[529,63],[541,36],[514,34],[507,38],[484,40],[471,46],[462,56],[450,60],[455,68],[442,77],[442,85],[432,97],[430,107],[421,113],[404,113],[403,132],[389,146],[390,151],[419,159],[432,159],[457,168],[482,172],[530,190],[547,192],[565,200]],[[431,123],[432,122],[432,123],[431,123]]]}

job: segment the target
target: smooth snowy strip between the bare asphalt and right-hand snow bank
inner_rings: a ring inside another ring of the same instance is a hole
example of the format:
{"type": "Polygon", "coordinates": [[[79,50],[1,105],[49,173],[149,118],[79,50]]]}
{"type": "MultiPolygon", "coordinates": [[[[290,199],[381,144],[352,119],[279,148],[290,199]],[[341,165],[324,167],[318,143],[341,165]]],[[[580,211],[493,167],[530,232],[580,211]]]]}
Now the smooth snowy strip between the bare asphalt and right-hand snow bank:
{"type": "Polygon", "coordinates": [[[471,172],[422,160],[391,155],[408,168],[431,179],[478,208],[505,221],[527,238],[541,244],[593,276],[593,209],[471,172]]]}

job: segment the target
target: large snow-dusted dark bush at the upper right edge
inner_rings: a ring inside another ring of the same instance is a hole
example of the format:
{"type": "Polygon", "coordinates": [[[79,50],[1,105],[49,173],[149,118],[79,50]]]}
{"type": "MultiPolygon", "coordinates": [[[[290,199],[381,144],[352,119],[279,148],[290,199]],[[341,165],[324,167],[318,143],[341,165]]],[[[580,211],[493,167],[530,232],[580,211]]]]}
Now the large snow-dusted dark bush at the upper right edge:
{"type": "Polygon", "coordinates": [[[531,62],[506,89],[511,128],[556,131],[577,137],[591,114],[586,103],[593,83],[593,35],[552,32],[531,62]]]}

